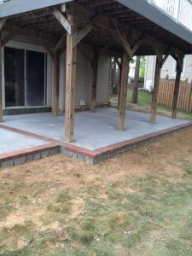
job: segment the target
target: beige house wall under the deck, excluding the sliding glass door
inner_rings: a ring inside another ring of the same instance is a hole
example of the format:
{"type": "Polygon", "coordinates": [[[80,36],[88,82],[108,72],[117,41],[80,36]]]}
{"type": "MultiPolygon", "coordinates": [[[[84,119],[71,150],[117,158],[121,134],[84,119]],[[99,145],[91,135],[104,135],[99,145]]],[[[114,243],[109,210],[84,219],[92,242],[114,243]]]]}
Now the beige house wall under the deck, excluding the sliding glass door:
{"type": "MultiPolygon", "coordinates": [[[[6,44],[8,47],[19,49],[31,49],[35,51],[44,52],[47,54],[47,106],[52,107],[53,103],[53,81],[54,81],[54,66],[53,61],[46,49],[39,44],[38,40],[31,40],[28,38],[15,38],[14,41],[9,41],[6,44]]],[[[3,53],[3,49],[2,49],[3,53]]],[[[59,108],[61,111],[65,108],[65,70],[66,70],[66,52],[60,56],[60,96],[59,108]]],[[[4,63],[3,67],[4,67],[4,63]]],[[[4,71],[4,70],[3,70],[4,71]]],[[[4,72],[3,72],[4,74],[4,72]]],[[[77,84],[76,84],[76,108],[84,108],[90,106],[91,101],[91,82],[92,69],[90,61],[86,59],[81,49],[78,49],[78,64],[77,64],[77,84]]],[[[101,55],[98,61],[97,72],[97,91],[96,104],[108,104],[110,82],[110,58],[107,55],[101,55]]],[[[4,95],[4,76],[3,76],[3,109],[5,108],[4,95]]]]}

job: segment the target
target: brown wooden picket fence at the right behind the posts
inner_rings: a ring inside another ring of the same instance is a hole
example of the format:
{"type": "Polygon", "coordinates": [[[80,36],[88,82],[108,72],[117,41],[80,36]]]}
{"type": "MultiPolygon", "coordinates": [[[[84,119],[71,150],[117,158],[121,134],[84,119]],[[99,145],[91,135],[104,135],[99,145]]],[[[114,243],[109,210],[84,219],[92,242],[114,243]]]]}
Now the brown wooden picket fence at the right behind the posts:
{"type": "MultiPolygon", "coordinates": [[[[168,79],[160,79],[160,89],[158,95],[158,103],[167,107],[172,108],[172,98],[174,93],[175,81],[168,79]]],[[[181,82],[177,109],[186,112],[192,110],[192,82],[181,82]]]]}

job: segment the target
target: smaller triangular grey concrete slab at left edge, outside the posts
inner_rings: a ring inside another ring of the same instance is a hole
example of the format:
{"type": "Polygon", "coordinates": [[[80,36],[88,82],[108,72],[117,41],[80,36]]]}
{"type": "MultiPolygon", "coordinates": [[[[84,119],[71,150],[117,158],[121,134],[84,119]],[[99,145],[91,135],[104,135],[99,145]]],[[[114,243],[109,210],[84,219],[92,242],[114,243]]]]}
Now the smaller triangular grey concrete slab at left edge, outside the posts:
{"type": "Polygon", "coordinates": [[[10,153],[16,150],[37,147],[45,144],[47,143],[44,141],[0,128],[0,154],[10,153]]]}

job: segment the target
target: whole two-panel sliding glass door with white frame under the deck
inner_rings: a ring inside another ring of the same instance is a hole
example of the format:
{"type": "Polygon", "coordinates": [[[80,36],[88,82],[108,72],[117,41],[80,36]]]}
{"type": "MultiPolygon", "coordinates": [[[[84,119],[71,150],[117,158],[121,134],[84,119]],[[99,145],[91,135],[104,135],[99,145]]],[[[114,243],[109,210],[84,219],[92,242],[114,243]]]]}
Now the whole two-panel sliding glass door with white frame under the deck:
{"type": "Polygon", "coordinates": [[[45,106],[45,54],[25,49],[4,49],[5,106],[45,106]]]}

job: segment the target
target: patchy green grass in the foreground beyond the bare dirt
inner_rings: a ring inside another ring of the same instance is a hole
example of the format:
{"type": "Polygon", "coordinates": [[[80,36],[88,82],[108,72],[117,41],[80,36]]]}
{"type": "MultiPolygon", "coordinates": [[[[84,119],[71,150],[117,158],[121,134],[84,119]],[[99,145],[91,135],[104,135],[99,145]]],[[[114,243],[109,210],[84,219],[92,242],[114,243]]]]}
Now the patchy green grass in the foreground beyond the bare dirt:
{"type": "MultiPolygon", "coordinates": [[[[135,193],[119,192],[117,183],[108,185],[105,200],[93,191],[84,196],[83,218],[64,222],[67,241],[49,230],[36,230],[32,223],[15,225],[1,231],[0,255],[191,256],[192,177],[169,183],[155,175],[127,176],[124,184],[135,193]],[[10,236],[15,248],[3,245],[10,236]],[[18,249],[15,241],[20,236],[27,243],[18,249]],[[48,243],[63,247],[49,248],[48,243]]],[[[66,193],[58,198],[66,201],[66,193]]]]}

